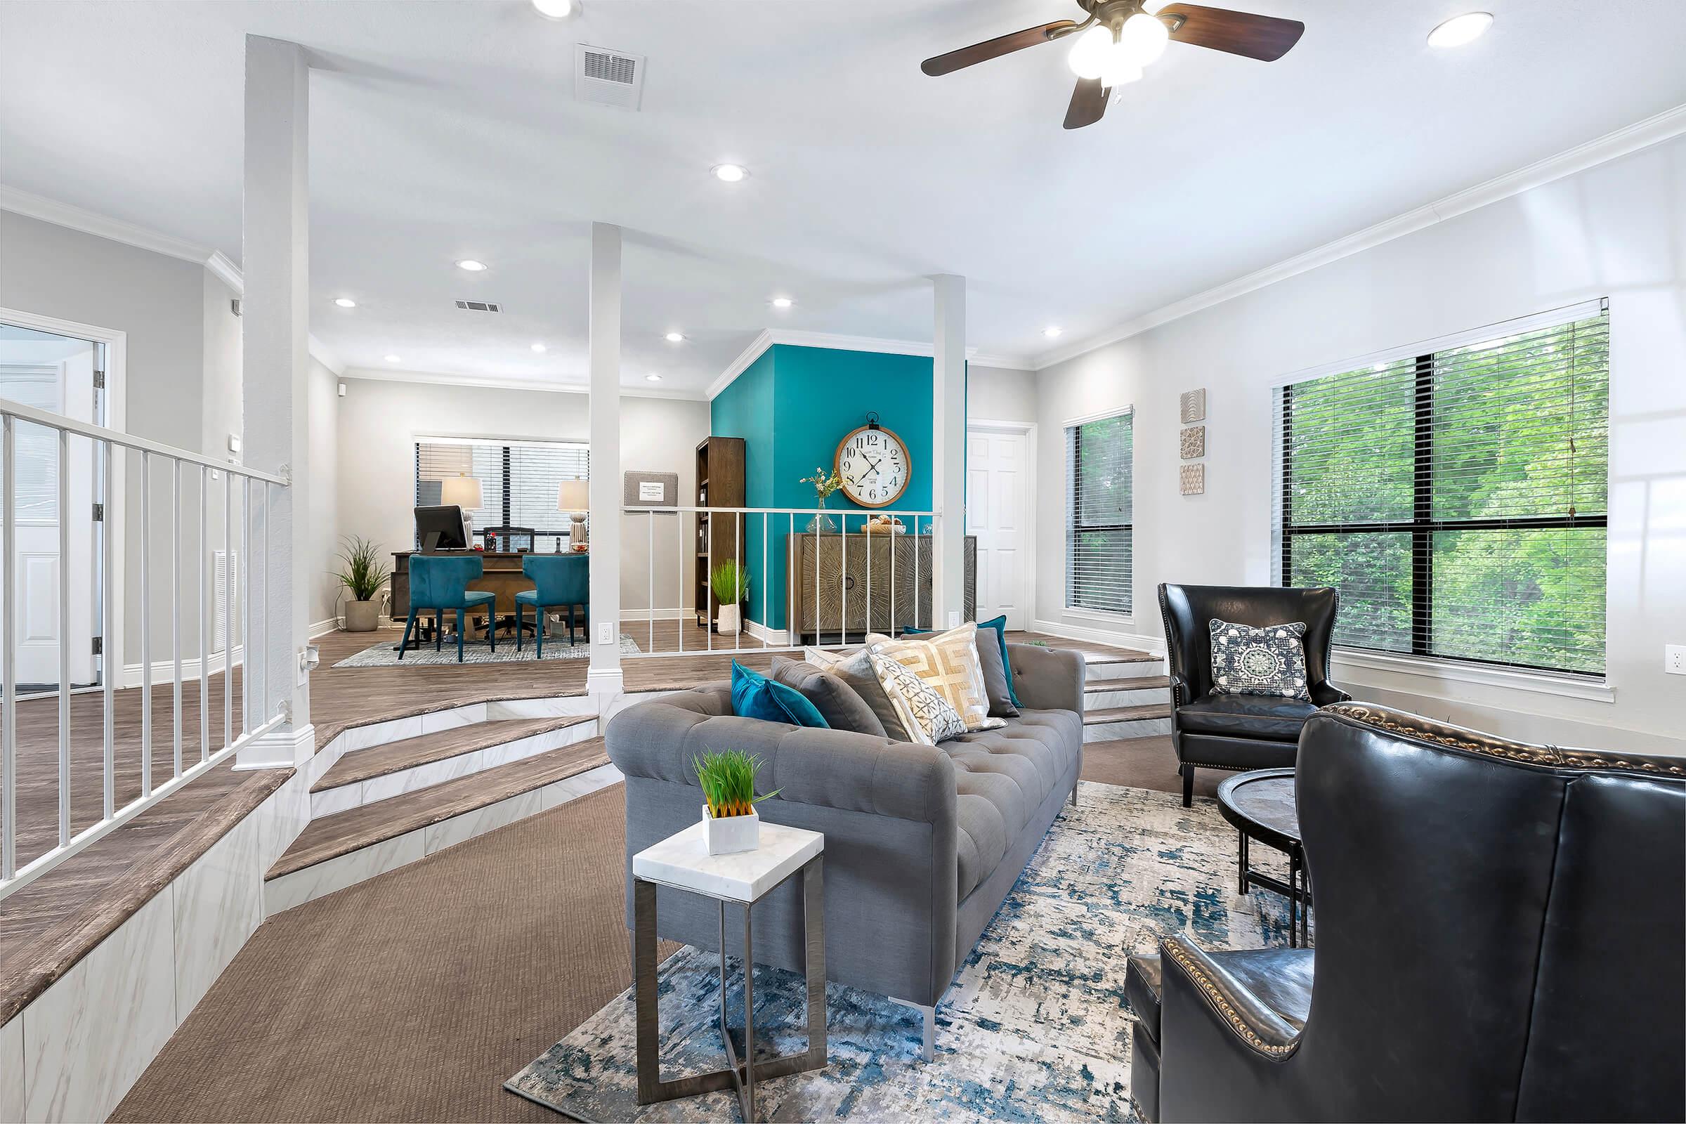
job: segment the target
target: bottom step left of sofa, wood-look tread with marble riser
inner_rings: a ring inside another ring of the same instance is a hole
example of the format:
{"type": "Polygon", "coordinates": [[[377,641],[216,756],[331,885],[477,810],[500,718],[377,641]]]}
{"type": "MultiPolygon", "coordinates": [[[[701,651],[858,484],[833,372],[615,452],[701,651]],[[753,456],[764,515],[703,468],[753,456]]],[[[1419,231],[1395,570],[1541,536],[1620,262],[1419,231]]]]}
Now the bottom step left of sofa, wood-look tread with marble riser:
{"type": "Polygon", "coordinates": [[[620,780],[600,736],[314,819],[265,875],[265,913],[302,905],[620,780]]]}

